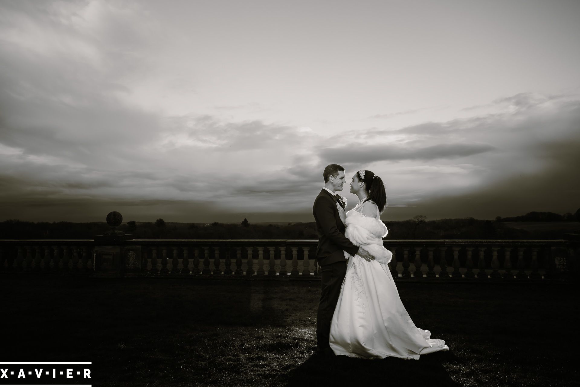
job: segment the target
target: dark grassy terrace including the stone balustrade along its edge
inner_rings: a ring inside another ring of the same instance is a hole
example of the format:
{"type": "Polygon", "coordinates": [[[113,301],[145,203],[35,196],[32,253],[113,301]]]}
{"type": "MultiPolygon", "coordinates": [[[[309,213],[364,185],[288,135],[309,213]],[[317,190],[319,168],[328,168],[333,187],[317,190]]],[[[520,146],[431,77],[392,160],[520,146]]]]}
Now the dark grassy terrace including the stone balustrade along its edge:
{"type": "Polygon", "coordinates": [[[409,314],[451,350],[364,361],[315,355],[316,241],[131,240],[114,227],[93,240],[0,241],[3,358],[92,361],[98,386],[560,386],[579,377],[562,334],[578,312],[575,236],[385,240],[409,314]]]}

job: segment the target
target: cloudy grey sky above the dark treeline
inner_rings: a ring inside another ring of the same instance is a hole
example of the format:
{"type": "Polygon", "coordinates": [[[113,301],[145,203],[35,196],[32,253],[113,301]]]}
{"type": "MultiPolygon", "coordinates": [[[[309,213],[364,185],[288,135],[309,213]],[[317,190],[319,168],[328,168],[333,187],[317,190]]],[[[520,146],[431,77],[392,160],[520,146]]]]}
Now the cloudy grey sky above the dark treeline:
{"type": "Polygon", "coordinates": [[[575,0],[2,0],[0,220],[313,221],[331,163],[383,179],[383,220],[575,212],[579,19],[575,0]]]}

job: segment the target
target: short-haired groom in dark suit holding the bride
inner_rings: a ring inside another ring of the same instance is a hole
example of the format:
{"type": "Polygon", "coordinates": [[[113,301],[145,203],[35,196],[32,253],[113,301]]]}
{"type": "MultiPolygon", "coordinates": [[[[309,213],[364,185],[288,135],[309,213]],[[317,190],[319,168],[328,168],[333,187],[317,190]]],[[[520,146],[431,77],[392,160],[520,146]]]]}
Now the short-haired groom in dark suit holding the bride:
{"type": "Polygon", "coordinates": [[[314,200],[312,208],[318,233],[316,261],[320,266],[322,280],[316,319],[316,351],[333,355],[328,341],[332,315],[346,274],[346,259],[343,251],[352,256],[358,254],[367,261],[371,261],[374,257],[345,237],[345,225],[339,215],[339,212],[344,212],[345,209],[342,203],[337,201],[338,196],[335,194],[335,191],[342,191],[342,186],[346,183],[345,168],[338,164],[327,165],[322,175],[324,187],[314,200]]]}

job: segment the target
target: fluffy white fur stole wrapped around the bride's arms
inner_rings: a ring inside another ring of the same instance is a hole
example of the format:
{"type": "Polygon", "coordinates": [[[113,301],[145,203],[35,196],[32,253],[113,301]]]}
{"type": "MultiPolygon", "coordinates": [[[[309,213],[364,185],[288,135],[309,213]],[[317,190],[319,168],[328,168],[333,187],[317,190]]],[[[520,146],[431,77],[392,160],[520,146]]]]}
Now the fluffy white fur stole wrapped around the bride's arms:
{"type": "MultiPolygon", "coordinates": [[[[385,223],[379,219],[364,216],[357,211],[349,211],[346,216],[345,236],[357,246],[364,247],[376,261],[389,263],[393,254],[383,247],[382,237],[389,233],[385,223]]],[[[345,251],[345,258],[351,255],[345,251]]]]}

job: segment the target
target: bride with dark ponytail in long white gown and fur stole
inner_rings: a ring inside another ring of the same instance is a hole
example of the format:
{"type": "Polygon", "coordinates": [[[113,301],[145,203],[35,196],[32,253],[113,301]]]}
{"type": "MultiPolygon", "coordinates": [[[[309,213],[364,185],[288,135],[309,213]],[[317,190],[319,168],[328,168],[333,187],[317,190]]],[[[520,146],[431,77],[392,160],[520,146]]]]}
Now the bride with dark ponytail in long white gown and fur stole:
{"type": "Polygon", "coordinates": [[[449,350],[445,341],[432,339],[431,332],[415,327],[401,302],[389,266],[391,256],[383,247],[387,227],[380,220],[386,194],[382,180],[361,169],[353,176],[350,192],[358,204],[340,213],[345,236],[375,256],[365,261],[345,252],[345,280],[332,317],[330,346],[336,355],[383,359],[419,359],[420,355],[449,350]]]}

